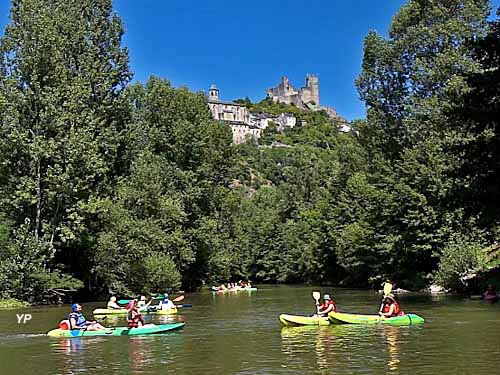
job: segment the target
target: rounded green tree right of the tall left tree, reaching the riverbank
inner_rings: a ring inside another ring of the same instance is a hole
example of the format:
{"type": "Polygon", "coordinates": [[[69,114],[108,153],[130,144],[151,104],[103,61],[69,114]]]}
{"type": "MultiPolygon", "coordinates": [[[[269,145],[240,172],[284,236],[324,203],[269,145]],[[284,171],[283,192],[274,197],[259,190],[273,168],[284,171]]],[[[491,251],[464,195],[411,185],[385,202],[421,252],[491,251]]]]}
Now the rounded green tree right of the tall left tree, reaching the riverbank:
{"type": "Polygon", "coordinates": [[[127,99],[129,172],[101,203],[96,271],[113,291],[137,293],[154,287],[144,279],[150,271],[141,260],[147,258],[170,270],[164,281],[155,277],[155,285],[170,280],[176,287],[176,275],[187,287],[199,285],[209,273],[216,236],[207,223],[232,182],[231,130],[213,121],[202,93],[160,78],[132,85],[127,99]]]}

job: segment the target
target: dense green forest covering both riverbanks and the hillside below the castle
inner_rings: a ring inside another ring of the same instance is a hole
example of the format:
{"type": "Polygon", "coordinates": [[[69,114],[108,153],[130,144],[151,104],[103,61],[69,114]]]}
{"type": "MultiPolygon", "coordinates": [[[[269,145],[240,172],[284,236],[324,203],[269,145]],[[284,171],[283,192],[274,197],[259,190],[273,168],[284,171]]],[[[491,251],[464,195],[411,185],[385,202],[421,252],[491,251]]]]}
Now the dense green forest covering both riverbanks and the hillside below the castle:
{"type": "Polygon", "coordinates": [[[353,62],[367,116],[352,132],[246,99],[306,125],[236,146],[203,93],[132,83],[111,0],[13,1],[0,40],[0,298],[238,279],[465,290],[500,265],[491,11],[409,0],[353,62]]]}

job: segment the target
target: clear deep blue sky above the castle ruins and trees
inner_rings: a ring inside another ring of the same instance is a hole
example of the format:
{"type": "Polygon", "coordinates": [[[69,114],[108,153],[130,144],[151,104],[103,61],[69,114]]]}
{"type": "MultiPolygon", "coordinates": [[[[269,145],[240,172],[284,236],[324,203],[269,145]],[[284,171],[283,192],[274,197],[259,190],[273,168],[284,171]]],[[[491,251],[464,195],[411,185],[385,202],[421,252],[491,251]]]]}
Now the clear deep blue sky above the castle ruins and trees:
{"type": "MultiPolygon", "coordinates": [[[[404,0],[114,0],[125,24],[134,80],[151,75],[224,100],[263,99],[282,75],[296,87],[320,79],[321,104],[364,117],[354,80],[369,30],[387,33],[404,0]]],[[[10,1],[0,0],[0,26],[10,1]]],[[[500,0],[493,1],[495,9],[500,0]]]]}

